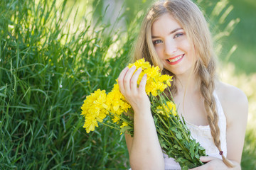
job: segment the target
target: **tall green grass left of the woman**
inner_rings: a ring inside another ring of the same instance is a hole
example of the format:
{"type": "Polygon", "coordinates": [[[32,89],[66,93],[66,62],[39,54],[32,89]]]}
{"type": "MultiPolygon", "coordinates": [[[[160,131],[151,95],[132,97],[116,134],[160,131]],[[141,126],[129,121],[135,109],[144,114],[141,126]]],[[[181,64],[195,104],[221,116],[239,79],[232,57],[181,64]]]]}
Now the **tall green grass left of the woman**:
{"type": "Polygon", "coordinates": [[[127,166],[123,136],[103,127],[88,135],[80,106],[112,89],[133,38],[90,16],[73,32],[66,2],[0,2],[0,169],[127,166]]]}

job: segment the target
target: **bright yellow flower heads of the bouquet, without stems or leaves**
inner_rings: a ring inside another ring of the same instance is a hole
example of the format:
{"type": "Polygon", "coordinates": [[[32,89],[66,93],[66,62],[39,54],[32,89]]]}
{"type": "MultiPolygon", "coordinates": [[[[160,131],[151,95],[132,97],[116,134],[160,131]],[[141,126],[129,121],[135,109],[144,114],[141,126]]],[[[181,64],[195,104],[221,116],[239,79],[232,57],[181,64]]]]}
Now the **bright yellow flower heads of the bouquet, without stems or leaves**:
{"type": "MultiPolygon", "coordinates": [[[[145,62],[144,58],[128,65],[129,68],[132,66],[136,66],[137,69],[142,68],[142,73],[139,75],[137,82],[138,85],[144,74],[147,75],[147,95],[157,96],[160,92],[164,91],[167,86],[171,86],[170,81],[172,77],[169,75],[161,75],[159,67],[152,67],[149,62],[145,62]]],[[[119,116],[122,116],[122,113],[127,112],[129,108],[131,108],[131,106],[125,101],[124,96],[119,91],[118,81],[117,84],[114,84],[114,87],[109,94],[106,94],[105,90],[101,91],[100,89],[97,89],[97,91],[87,96],[82,104],[81,115],[85,117],[84,128],[86,129],[86,132],[95,130],[95,126],[98,126],[97,123],[102,122],[109,113],[111,113],[110,117],[112,118],[113,123],[119,123],[119,116]]],[[[167,106],[164,106],[164,108],[158,108],[158,112],[164,113],[164,110],[169,112],[173,111],[174,108],[167,103],[167,106]]],[[[124,125],[125,124],[121,127],[124,127],[124,125]]]]}

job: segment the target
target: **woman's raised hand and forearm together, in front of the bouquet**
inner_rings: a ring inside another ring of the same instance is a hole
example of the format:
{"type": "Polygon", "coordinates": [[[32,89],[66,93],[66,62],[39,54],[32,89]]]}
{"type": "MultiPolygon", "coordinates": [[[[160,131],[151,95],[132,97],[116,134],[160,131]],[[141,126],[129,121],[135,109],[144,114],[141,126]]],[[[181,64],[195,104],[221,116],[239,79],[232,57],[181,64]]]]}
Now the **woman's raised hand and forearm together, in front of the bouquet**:
{"type": "Polygon", "coordinates": [[[163,152],[145,91],[146,74],[138,86],[142,69],[135,70],[135,66],[126,67],[118,77],[119,90],[134,110],[134,136],[125,135],[130,165],[132,169],[164,169],[163,152]]]}

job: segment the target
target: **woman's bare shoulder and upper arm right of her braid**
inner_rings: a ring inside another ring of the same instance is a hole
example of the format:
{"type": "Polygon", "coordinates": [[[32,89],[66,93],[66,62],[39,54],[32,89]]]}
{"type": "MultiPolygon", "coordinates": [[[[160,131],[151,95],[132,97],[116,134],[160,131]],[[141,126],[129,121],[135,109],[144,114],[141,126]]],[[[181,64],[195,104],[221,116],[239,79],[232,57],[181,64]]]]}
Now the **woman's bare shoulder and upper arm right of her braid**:
{"type": "Polygon", "coordinates": [[[247,97],[235,86],[222,82],[216,85],[215,90],[227,121],[227,158],[240,164],[247,126],[247,97]]]}

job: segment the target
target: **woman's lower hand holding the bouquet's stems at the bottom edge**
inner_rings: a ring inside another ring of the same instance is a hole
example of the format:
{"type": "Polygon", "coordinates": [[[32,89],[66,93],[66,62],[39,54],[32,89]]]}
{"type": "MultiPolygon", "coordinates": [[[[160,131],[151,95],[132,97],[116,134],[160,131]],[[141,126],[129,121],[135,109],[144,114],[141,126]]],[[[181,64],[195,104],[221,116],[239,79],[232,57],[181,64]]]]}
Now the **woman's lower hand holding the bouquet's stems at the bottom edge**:
{"type": "MultiPolygon", "coordinates": [[[[200,157],[201,162],[206,162],[206,164],[202,166],[198,166],[193,168],[193,170],[225,170],[228,169],[223,162],[223,160],[216,158],[216,157],[200,157]]],[[[192,170],[192,169],[191,169],[192,170]]]]}

